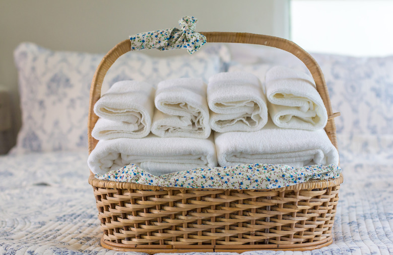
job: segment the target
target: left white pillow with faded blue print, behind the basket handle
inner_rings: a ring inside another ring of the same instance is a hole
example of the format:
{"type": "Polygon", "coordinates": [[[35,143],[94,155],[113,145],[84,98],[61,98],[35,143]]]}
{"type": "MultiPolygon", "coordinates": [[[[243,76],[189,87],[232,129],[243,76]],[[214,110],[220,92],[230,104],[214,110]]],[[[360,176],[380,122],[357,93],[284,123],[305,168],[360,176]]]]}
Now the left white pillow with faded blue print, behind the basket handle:
{"type": "MultiPolygon", "coordinates": [[[[18,69],[22,127],[11,153],[87,148],[90,83],[103,54],[52,51],[22,43],[14,52],[18,69]]],[[[151,83],[177,77],[205,81],[223,71],[229,52],[206,45],[184,56],[154,58],[140,52],[121,56],[109,69],[103,91],[118,80],[151,83]]]]}

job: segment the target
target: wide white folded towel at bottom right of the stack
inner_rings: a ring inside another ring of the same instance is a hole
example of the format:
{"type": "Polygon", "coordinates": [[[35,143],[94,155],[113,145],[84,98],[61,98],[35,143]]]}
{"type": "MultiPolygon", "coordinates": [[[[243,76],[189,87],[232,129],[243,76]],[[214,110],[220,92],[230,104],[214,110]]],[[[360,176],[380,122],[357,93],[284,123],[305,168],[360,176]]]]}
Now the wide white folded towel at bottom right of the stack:
{"type": "Polygon", "coordinates": [[[279,128],[269,121],[255,132],[215,133],[218,163],[338,164],[339,154],[323,129],[316,131],[279,128]]]}

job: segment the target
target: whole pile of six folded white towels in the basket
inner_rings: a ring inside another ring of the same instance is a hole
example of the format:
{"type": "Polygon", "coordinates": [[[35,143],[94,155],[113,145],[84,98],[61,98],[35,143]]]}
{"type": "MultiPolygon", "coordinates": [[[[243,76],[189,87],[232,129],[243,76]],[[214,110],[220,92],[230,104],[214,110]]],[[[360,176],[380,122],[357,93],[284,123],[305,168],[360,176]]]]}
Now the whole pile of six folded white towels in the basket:
{"type": "Polygon", "coordinates": [[[102,175],[134,163],[162,175],[218,164],[338,164],[312,78],[278,66],[265,86],[246,72],[218,73],[208,84],[165,80],[156,90],[117,82],[94,108],[100,118],[92,136],[99,142],[90,169],[102,175]]]}

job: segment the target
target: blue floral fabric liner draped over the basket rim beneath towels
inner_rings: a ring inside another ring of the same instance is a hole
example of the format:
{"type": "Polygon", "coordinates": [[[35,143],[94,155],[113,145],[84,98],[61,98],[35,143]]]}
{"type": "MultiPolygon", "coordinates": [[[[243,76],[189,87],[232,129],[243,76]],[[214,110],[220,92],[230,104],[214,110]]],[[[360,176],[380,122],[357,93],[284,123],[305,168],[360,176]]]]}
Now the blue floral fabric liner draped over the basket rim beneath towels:
{"type": "Polygon", "coordinates": [[[240,164],[235,166],[195,168],[153,176],[135,164],[129,164],[97,179],[160,187],[206,189],[275,189],[310,180],[328,180],[340,176],[335,164],[295,168],[279,164],[240,164]]]}

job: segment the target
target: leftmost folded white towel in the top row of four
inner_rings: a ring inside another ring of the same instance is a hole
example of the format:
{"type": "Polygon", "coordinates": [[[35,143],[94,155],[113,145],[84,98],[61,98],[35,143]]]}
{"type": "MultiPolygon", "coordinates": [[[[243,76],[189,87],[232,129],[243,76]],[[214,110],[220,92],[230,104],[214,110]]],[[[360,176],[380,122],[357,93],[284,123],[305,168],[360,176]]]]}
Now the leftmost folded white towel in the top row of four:
{"type": "Polygon", "coordinates": [[[100,118],[129,125],[119,123],[116,128],[113,122],[99,120],[93,132],[101,136],[107,125],[111,138],[147,136],[154,112],[154,92],[153,86],[146,82],[123,80],[114,83],[94,105],[94,112],[100,118]]]}

